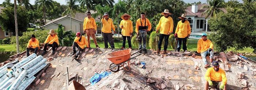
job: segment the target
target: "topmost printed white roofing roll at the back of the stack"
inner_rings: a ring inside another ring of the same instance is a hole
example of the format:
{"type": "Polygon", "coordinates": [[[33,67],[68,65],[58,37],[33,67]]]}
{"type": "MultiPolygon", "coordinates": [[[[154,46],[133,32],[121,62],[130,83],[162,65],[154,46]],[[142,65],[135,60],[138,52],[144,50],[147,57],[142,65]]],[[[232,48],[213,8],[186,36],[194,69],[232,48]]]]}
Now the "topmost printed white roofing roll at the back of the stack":
{"type": "Polygon", "coordinates": [[[31,54],[29,57],[26,57],[25,59],[23,59],[22,61],[18,62],[17,64],[15,64],[11,69],[13,71],[16,71],[16,69],[18,69],[20,66],[23,66],[24,64],[26,64],[27,62],[33,60],[35,57],[37,57],[37,54],[33,53],[31,54]]]}

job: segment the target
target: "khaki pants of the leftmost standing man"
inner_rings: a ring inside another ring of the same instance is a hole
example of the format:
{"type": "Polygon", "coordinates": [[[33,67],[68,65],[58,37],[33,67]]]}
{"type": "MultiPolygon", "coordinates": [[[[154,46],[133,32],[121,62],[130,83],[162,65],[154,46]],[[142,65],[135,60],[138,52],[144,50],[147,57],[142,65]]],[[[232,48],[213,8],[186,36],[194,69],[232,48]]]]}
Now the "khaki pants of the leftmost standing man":
{"type": "Polygon", "coordinates": [[[94,44],[98,45],[96,37],[95,37],[94,29],[86,29],[86,30],[84,30],[84,33],[86,33],[86,35],[87,35],[87,41],[88,41],[89,46],[90,46],[90,36],[93,38],[94,44]]]}

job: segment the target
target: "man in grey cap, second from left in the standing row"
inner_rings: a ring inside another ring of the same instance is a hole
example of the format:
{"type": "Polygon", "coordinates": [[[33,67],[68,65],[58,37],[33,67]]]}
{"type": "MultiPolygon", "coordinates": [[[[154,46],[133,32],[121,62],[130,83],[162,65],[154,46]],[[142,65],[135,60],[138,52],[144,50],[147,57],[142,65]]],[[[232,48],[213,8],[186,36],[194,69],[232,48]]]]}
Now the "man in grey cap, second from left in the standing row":
{"type": "Polygon", "coordinates": [[[104,38],[105,49],[108,48],[108,42],[111,48],[114,49],[115,46],[111,28],[113,29],[114,33],[116,32],[116,29],[114,27],[113,20],[110,19],[108,13],[105,12],[101,19],[101,22],[103,24],[101,31],[104,38]]]}

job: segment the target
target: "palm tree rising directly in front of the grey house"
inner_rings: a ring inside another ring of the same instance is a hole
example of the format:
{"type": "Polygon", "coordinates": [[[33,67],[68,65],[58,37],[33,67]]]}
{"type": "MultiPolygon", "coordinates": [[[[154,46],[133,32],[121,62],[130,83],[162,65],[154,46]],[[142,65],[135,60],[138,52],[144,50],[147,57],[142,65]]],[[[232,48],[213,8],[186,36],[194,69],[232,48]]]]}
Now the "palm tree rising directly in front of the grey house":
{"type": "Polygon", "coordinates": [[[64,15],[64,13],[69,12],[69,14],[70,14],[70,30],[72,30],[71,18],[75,17],[76,11],[79,10],[79,5],[78,5],[79,0],[66,0],[66,2],[67,2],[68,8],[63,12],[63,15],[64,15]]]}

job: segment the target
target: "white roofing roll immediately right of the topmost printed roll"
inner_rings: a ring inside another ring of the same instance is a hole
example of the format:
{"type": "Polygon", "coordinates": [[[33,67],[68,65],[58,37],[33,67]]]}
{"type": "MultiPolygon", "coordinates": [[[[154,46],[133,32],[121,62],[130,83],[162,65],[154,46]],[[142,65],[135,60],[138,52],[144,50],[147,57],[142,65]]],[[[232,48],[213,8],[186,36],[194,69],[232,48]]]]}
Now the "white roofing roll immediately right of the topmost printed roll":
{"type": "Polygon", "coordinates": [[[27,62],[27,64],[21,66],[20,68],[21,68],[22,70],[27,70],[27,69],[29,69],[31,66],[35,65],[37,62],[41,61],[42,59],[44,59],[44,57],[41,56],[41,55],[39,55],[39,56],[37,56],[36,58],[34,58],[33,60],[27,62]]]}

